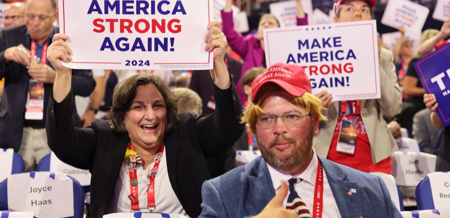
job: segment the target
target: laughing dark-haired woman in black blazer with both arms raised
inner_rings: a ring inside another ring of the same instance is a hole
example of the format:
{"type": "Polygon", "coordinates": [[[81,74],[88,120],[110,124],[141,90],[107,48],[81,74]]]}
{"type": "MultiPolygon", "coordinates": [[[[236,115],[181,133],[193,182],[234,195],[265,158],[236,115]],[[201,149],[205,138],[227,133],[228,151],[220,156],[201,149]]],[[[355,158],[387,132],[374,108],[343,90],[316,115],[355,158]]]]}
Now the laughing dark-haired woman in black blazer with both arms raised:
{"type": "Polygon", "coordinates": [[[46,123],[49,147],[63,162],[89,169],[91,206],[88,217],[115,212],[158,212],[198,217],[202,183],[209,179],[206,159],[228,150],[242,135],[242,112],[223,56],[226,37],[208,24],[204,39],[214,53],[211,72],[216,114],[177,115],[177,100],[157,76],[135,75],[114,89],[111,121],[73,126],[71,49],[57,34],[48,60],[57,76],[46,123]]]}

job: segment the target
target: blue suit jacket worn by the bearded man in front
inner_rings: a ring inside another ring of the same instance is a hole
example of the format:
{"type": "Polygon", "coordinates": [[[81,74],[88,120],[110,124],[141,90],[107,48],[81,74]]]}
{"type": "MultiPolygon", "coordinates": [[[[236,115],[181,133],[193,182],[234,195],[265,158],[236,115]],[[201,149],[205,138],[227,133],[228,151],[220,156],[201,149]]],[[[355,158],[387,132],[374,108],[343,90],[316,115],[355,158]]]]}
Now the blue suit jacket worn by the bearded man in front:
{"type": "MultiPolygon", "coordinates": [[[[402,218],[383,180],[375,175],[319,158],[342,218],[402,218]],[[351,196],[347,191],[356,189],[351,196]]],[[[275,196],[266,161],[247,165],[208,180],[202,186],[199,218],[245,218],[259,214],[275,196]]]]}

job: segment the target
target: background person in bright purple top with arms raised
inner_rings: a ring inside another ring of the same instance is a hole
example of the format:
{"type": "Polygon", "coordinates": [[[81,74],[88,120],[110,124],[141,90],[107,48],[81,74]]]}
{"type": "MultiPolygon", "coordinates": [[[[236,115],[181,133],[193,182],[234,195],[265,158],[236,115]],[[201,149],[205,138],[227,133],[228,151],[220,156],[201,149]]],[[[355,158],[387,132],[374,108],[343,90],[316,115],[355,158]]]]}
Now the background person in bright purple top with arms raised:
{"type": "MultiPolygon", "coordinates": [[[[264,14],[258,23],[256,36],[249,34],[242,36],[234,30],[233,12],[231,6],[233,0],[226,0],[225,8],[221,12],[223,31],[229,41],[231,49],[238,53],[243,59],[241,76],[253,67],[266,67],[266,56],[264,54],[263,30],[267,28],[280,27],[279,21],[274,15],[264,14]]],[[[297,26],[308,25],[308,15],[303,12],[301,0],[296,0],[297,9],[297,26]]],[[[237,85],[239,97],[246,99],[247,96],[243,92],[241,82],[237,85]]]]}

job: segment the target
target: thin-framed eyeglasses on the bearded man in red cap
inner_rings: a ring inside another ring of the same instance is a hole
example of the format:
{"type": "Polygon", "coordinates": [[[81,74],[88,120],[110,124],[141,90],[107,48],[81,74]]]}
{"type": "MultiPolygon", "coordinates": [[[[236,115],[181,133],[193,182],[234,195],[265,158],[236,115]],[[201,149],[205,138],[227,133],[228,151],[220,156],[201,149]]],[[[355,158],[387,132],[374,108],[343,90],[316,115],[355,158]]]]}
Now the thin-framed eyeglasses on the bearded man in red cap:
{"type": "Polygon", "coordinates": [[[302,124],[302,118],[309,116],[309,114],[302,114],[298,111],[288,111],[282,115],[275,115],[275,113],[261,114],[257,116],[256,123],[260,129],[270,129],[275,126],[278,117],[281,117],[283,123],[288,127],[299,127],[302,124]]]}

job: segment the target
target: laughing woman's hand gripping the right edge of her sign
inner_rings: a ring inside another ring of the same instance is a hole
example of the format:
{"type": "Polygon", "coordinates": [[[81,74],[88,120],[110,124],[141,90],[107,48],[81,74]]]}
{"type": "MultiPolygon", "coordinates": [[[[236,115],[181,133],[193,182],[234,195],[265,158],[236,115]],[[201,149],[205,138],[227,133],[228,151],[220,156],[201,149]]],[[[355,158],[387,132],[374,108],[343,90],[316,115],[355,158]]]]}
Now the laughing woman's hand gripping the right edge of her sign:
{"type": "Polygon", "coordinates": [[[223,60],[228,45],[225,34],[220,30],[220,22],[212,21],[207,26],[208,32],[204,41],[205,51],[213,52],[214,60],[223,60]]]}

